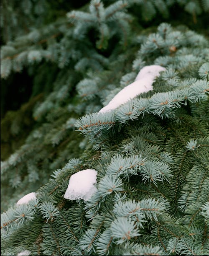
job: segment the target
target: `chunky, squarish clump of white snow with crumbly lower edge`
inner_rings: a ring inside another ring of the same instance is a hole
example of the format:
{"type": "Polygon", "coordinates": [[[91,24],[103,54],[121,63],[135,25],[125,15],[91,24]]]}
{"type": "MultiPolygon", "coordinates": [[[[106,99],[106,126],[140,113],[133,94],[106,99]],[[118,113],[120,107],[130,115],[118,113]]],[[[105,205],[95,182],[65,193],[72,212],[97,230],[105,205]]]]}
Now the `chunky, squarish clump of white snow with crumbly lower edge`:
{"type": "Polygon", "coordinates": [[[87,201],[97,190],[97,171],[87,169],[74,173],[69,180],[64,198],[70,200],[84,199],[87,201]]]}

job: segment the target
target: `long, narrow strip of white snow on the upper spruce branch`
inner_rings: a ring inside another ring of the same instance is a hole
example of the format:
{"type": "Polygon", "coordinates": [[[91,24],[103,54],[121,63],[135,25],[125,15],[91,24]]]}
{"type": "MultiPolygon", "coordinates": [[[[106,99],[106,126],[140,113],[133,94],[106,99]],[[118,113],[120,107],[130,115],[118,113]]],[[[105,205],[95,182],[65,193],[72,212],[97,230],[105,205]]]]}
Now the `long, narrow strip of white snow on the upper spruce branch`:
{"type": "Polygon", "coordinates": [[[155,78],[160,75],[161,71],[165,70],[165,67],[161,67],[159,65],[143,67],[135,78],[135,81],[117,93],[115,97],[107,104],[107,106],[104,106],[99,110],[99,113],[104,113],[112,109],[116,109],[140,93],[153,90],[152,84],[155,78]]]}

